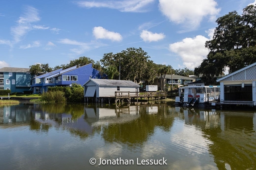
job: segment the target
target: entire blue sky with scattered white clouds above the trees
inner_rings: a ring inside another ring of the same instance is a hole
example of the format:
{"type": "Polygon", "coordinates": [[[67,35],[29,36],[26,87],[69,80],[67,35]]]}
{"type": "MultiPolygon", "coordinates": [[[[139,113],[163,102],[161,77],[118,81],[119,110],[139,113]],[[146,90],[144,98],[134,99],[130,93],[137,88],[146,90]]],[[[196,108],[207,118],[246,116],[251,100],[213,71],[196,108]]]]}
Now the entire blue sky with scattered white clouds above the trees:
{"type": "Polygon", "coordinates": [[[215,20],[256,0],[6,0],[0,2],[0,68],[67,64],[141,47],[150,59],[194,70],[215,20]]]}

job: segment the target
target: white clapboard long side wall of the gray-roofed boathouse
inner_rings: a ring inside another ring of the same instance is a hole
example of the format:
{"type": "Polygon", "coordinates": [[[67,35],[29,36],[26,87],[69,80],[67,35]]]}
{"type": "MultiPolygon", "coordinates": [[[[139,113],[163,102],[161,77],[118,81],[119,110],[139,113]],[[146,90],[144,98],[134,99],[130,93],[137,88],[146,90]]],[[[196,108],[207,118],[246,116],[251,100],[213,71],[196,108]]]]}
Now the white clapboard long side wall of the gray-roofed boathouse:
{"type": "MultiPolygon", "coordinates": [[[[114,97],[117,91],[117,86],[100,86],[99,97],[114,97]]],[[[136,88],[120,86],[120,92],[136,92],[136,88]]]]}

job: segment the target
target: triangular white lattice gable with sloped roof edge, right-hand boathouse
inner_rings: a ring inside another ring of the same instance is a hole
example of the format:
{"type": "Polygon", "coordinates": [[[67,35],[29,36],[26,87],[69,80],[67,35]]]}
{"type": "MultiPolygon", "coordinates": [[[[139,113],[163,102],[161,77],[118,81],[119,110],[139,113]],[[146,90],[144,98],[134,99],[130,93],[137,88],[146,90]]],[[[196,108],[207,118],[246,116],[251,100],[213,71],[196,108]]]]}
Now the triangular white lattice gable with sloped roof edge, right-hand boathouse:
{"type": "Polygon", "coordinates": [[[256,63],[232,72],[223,78],[217,80],[220,81],[240,81],[240,80],[255,80],[256,79],[256,63]]]}

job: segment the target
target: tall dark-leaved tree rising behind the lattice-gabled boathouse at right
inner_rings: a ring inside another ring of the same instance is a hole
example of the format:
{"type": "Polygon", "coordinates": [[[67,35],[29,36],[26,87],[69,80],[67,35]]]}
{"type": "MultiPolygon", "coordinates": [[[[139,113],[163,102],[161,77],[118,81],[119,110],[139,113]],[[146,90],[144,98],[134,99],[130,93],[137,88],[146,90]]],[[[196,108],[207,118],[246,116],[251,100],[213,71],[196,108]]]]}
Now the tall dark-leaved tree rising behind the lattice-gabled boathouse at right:
{"type": "Polygon", "coordinates": [[[256,6],[229,12],[216,20],[213,39],[206,41],[207,58],[194,69],[206,84],[215,84],[215,77],[228,67],[229,73],[256,62],[256,6]]]}

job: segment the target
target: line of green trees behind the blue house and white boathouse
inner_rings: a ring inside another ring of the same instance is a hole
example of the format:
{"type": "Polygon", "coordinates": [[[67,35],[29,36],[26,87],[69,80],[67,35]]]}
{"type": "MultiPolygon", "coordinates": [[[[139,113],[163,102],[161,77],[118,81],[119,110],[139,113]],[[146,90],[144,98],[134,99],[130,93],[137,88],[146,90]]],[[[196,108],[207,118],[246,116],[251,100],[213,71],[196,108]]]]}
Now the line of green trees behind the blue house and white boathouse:
{"type": "Polygon", "coordinates": [[[70,61],[68,64],[62,64],[51,68],[48,63],[35,64],[29,66],[32,75],[39,75],[51,72],[56,69],[66,69],[72,66],[84,66],[88,63],[93,63],[93,68],[105,73],[109,79],[131,80],[136,83],[144,81],[145,84],[153,84],[158,76],[166,74],[176,74],[188,77],[194,75],[194,71],[190,69],[173,69],[171,65],[156,64],[150,60],[141,48],[127,48],[116,54],[110,52],[103,55],[100,61],[94,61],[88,57],[79,57],[70,61]],[[119,74],[120,73],[120,74],[119,74]]]}

